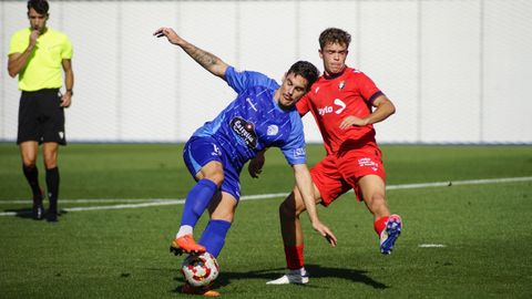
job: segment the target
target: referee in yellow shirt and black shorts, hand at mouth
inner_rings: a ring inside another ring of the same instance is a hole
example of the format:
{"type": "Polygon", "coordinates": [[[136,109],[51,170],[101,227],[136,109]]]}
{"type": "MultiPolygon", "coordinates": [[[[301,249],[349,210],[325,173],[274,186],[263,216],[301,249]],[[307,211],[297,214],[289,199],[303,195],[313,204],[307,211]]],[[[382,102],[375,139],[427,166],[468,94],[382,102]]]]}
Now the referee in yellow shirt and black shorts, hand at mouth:
{"type": "Polygon", "coordinates": [[[22,171],[33,193],[33,217],[58,220],[59,144],[65,145],[64,111],[73,95],[72,44],[69,38],[47,27],[50,17],[48,1],[28,1],[30,27],[11,37],[8,71],[19,75],[22,91],[19,106],[17,144],[22,157],[22,171]],[[61,94],[64,71],[64,94],[61,94]],[[44,197],[39,186],[35,165],[39,145],[42,144],[45,181],[50,207],[44,214],[44,197]]]}

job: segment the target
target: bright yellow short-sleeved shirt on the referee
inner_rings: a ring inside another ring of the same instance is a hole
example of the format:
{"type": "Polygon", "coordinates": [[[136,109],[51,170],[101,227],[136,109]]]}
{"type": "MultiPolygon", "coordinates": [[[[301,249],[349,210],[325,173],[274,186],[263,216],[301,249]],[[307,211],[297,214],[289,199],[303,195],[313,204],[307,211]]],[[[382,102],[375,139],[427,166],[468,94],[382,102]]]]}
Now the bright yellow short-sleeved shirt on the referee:
{"type": "MultiPolygon", "coordinates": [[[[24,52],[30,44],[30,28],[14,32],[9,54],[24,52]]],[[[37,39],[28,64],[19,73],[19,90],[60,89],[63,59],[72,59],[72,43],[64,33],[48,28],[47,32],[37,39]]]]}

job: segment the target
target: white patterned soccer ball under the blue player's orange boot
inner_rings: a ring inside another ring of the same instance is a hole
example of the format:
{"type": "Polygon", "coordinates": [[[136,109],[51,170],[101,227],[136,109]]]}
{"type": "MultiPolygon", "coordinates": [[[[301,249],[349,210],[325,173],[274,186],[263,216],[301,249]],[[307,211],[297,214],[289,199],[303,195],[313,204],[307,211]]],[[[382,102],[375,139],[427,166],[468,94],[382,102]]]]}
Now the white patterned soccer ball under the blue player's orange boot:
{"type": "Polygon", "coordinates": [[[185,258],[181,271],[188,283],[194,287],[204,287],[211,285],[218,277],[219,266],[213,255],[204,252],[185,258]]]}

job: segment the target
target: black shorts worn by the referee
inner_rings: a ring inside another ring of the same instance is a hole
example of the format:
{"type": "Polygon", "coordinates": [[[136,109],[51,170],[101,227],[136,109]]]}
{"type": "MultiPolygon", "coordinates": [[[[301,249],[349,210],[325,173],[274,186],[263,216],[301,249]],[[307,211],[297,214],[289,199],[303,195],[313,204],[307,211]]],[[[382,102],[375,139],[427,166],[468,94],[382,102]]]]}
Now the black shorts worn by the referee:
{"type": "Polygon", "coordinates": [[[27,141],[66,144],[64,109],[58,89],[23,91],[20,96],[17,144],[27,141]]]}

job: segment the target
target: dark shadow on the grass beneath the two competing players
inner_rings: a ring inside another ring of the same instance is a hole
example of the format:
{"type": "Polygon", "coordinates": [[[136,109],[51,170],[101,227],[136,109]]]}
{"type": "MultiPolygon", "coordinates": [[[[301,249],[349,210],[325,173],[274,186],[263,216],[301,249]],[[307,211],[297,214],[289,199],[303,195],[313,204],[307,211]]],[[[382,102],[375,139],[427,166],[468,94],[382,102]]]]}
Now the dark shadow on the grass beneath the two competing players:
{"type": "MultiPolygon", "coordinates": [[[[319,265],[306,265],[305,268],[310,274],[310,283],[308,285],[299,285],[304,288],[323,288],[317,285],[313,285],[311,279],[316,278],[340,278],[346,279],[351,282],[356,283],[364,283],[368,287],[374,289],[387,289],[382,282],[379,282],[367,275],[368,271],[364,270],[355,270],[355,269],[345,269],[345,268],[330,268],[330,267],[323,267],[319,265]]],[[[286,269],[277,268],[277,269],[267,269],[267,270],[258,270],[258,271],[248,271],[248,272],[221,272],[218,279],[214,283],[214,288],[225,287],[232,283],[233,280],[243,280],[243,279],[262,279],[264,283],[266,281],[279,278],[286,269]]],[[[175,278],[176,281],[182,283],[185,282],[182,276],[175,278]]],[[[181,290],[182,285],[180,285],[173,292],[182,293],[181,290]]]]}

